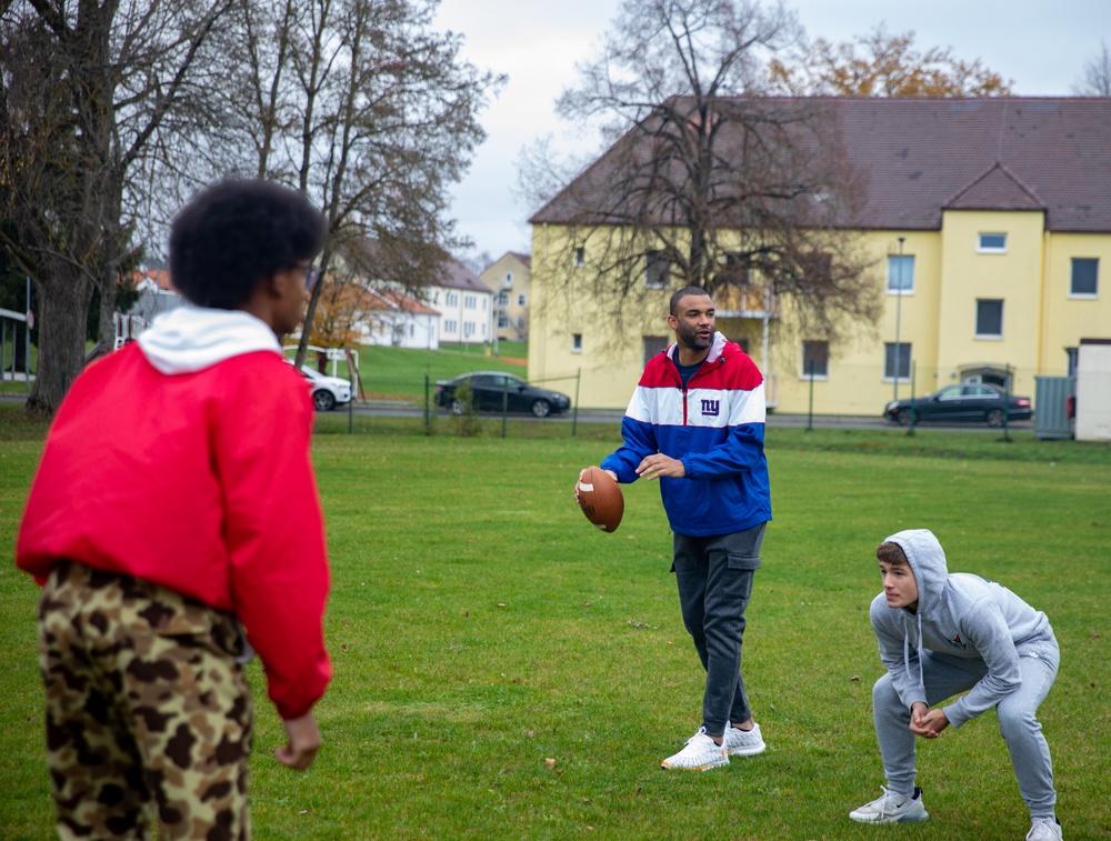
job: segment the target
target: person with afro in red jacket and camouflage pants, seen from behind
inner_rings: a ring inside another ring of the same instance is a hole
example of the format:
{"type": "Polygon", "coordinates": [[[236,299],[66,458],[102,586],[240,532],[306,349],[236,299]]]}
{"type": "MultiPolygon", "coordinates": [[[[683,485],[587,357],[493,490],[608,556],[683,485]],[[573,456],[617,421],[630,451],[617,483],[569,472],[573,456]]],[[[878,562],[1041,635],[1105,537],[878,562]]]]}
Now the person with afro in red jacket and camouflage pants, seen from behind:
{"type": "Polygon", "coordinates": [[[173,221],[190,302],[90,366],[47,438],[17,564],[43,585],[39,660],[62,838],[250,835],[266,669],[290,768],[321,744],[331,678],[312,403],[278,337],[324,238],[303,196],[221,181],[173,221]]]}

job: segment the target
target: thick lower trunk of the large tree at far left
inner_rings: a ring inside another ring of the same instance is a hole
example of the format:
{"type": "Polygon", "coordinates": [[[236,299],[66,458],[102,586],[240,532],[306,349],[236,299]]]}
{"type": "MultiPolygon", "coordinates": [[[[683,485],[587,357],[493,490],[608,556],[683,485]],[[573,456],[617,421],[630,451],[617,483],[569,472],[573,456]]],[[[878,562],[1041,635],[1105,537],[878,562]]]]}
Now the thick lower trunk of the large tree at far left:
{"type": "Polygon", "coordinates": [[[80,270],[60,270],[48,278],[36,283],[39,366],[27,399],[27,411],[40,414],[53,414],[84,367],[86,323],[92,300],[92,284],[80,270]]]}

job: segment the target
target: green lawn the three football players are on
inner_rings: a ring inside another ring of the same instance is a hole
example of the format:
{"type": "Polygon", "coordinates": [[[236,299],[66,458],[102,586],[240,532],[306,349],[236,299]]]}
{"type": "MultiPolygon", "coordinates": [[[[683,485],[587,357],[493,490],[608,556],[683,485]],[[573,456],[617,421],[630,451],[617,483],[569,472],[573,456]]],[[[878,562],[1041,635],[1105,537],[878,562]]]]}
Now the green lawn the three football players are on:
{"type": "MultiPolygon", "coordinates": [[[[467,369],[470,370],[470,369],[467,369]]],[[[928,527],[953,570],[1044,610],[1061,673],[1041,710],[1065,838],[1111,839],[1111,447],[920,430],[769,428],[775,520],[745,634],[768,751],[708,773],[660,760],[698,725],[702,674],[669,573],[658,489],[625,489],[610,535],[574,505],[617,424],[318,418],[333,570],[326,747],[294,774],[251,668],[259,839],[1015,839],[1029,828],[989,713],[920,742],[931,820],[848,812],[883,782],[871,725],[881,667],[873,550],[928,527]],[[441,434],[442,432],[442,434],[441,434]]],[[[0,406],[0,533],[13,541],[43,428],[0,406]]],[[[138,515],[138,514],[137,514],[138,515]]],[[[47,839],[37,590],[0,568],[0,835],[47,839]]]]}

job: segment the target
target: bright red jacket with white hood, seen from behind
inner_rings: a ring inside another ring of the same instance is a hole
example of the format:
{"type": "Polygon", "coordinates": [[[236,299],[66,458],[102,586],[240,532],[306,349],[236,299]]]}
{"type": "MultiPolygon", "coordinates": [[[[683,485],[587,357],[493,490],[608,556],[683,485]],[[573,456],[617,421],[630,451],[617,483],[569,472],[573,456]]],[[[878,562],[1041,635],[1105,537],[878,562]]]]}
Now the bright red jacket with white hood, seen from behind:
{"type": "Polygon", "coordinates": [[[311,430],[304,381],[263,322],[174,310],[74,381],[16,562],[40,584],[69,559],[233,612],[279,714],[300,718],[331,678],[311,430]]]}

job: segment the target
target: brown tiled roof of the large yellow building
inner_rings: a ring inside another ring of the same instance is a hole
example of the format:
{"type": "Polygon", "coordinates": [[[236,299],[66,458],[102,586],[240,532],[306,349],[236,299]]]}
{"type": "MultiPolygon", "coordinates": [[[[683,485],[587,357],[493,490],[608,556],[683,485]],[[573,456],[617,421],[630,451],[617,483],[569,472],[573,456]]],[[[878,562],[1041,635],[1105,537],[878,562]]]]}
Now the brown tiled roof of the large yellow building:
{"type": "MultiPolygon", "coordinates": [[[[1041,210],[1051,231],[1111,231],[1111,99],[813,98],[864,201],[843,227],[939,230],[943,210],[1041,210]]],[[[749,103],[751,104],[751,102],[749,103]]],[[[727,127],[728,128],[728,127],[727,127]]],[[[830,134],[828,134],[830,136],[830,134]]],[[[625,136],[530,220],[573,221],[575,192],[605,196],[625,136]]]]}

